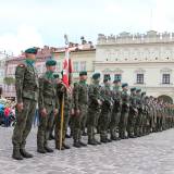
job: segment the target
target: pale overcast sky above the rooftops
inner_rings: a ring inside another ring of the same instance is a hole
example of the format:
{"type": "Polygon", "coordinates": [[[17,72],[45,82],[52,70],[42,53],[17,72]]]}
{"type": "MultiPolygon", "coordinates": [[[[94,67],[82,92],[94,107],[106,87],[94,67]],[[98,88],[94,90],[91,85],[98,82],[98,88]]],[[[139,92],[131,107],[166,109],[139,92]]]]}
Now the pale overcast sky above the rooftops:
{"type": "Polygon", "coordinates": [[[80,36],[174,32],[173,0],[0,0],[0,50],[64,46],[80,36]]]}

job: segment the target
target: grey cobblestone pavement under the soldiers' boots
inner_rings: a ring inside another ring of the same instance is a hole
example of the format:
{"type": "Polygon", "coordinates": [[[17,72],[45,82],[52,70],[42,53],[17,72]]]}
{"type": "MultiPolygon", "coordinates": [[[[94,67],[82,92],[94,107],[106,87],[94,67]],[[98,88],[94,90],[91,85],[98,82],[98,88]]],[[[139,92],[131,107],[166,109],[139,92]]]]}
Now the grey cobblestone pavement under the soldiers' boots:
{"type": "Polygon", "coordinates": [[[174,174],[174,129],[49,154],[36,152],[36,132],[33,128],[27,139],[27,150],[35,157],[15,161],[12,128],[0,127],[0,174],[174,174]]]}

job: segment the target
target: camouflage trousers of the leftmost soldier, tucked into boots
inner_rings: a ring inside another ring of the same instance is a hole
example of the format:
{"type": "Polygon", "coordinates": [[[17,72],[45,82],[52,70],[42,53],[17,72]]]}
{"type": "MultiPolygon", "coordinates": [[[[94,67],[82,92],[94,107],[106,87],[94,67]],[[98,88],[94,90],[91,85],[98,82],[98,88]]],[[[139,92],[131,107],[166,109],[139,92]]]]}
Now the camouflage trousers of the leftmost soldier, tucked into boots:
{"type": "Polygon", "coordinates": [[[24,99],[24,109],[22,112],[16,111],[16,124],[13,130],[12,142],[16,148],[25,148],[26,138],[30,132],[35,112],[36,112],[36,101],[24,99]]]}

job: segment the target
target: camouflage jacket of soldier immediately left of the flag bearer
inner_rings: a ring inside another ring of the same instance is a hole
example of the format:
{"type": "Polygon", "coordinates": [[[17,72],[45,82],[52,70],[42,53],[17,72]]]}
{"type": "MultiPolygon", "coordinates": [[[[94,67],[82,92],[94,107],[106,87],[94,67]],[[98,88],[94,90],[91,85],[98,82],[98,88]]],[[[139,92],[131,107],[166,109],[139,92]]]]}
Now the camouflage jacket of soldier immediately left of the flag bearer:
{"type": "Polygon", "coordinates": [[[39,109],[44,109],[46,105],[53,105],[53,108],[58,109],[58,104],[55,80],[45,73],[39,78],[39,109]]]}

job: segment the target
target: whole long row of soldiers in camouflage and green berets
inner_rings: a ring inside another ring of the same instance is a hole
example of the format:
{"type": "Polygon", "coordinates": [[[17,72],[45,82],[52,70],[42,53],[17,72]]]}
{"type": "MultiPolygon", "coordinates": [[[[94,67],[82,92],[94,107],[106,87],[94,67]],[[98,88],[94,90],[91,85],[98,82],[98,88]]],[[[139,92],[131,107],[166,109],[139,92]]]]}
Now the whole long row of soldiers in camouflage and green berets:
{"type": "Polygon", "coordinates": [[[13,130],[13,154],[16,160],[33,158],[26,151],[26,138],[30,132],[36,105],[39,107],[37,151],[53,152],[49,147],[49,136],[54,129],[55,149],[70,149],[65,144],[69,123],[73,146],[86,147],[82,136],[88,136],[88,145],[97,146],[125,138],[135,138],[151,132],[173,126],[173,109],[167,103],[147,97],[140,89],[132,88],[121,80],[103,79],[100,73],[92,75],[92,84],[87,84],[87,72],[79,73],[79,82],[65,86],[55,73],[57,61],[46,62],[46,73],[38,77],[35,69],[37,49],[25,51],[26,60],[15,72],[16,125],[13,130]],[[122,88],[122,89],[121,89],[122,88]],[[62,116],[63,115],[63,122],[62,116]],[[63,128],[62,128],[63,123],[63,128]],[[100,134],[100,140],[96,133],[100,134]]]}

